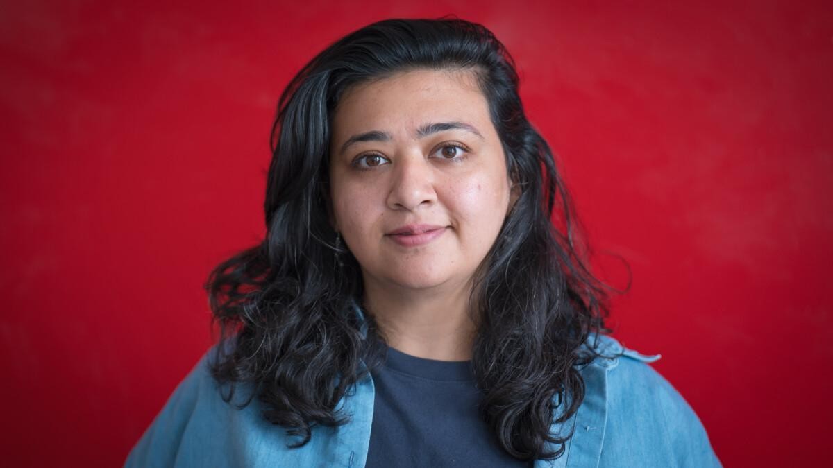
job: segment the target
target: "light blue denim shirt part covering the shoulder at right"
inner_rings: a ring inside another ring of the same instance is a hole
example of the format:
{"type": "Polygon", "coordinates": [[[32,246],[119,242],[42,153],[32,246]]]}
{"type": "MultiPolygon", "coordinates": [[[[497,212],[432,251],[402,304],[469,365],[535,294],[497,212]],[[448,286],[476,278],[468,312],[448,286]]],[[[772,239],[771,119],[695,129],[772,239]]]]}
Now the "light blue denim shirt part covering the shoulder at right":
{"type": "Polygon", "coordinates": [[[591,336],[586,346],[599,356],[580,369],[586,391],[569,459],[594,457],[598,466],[720,466],[696,413],[649,365],[661,356],[605,335],[591,336]]]}

